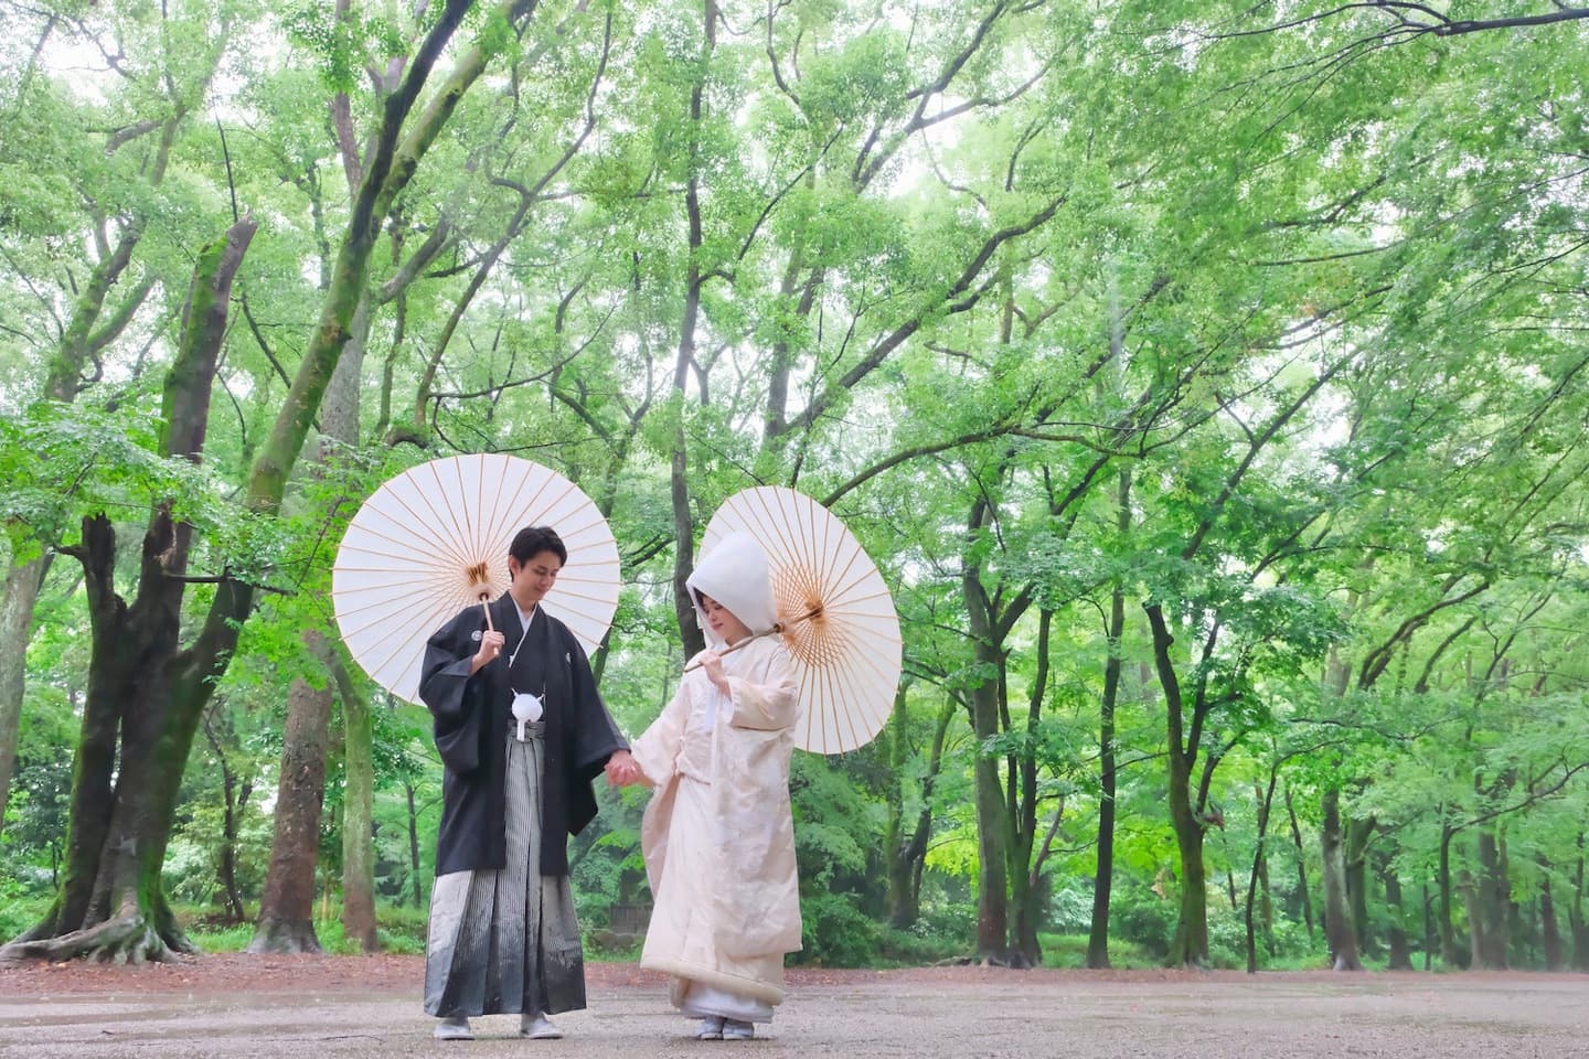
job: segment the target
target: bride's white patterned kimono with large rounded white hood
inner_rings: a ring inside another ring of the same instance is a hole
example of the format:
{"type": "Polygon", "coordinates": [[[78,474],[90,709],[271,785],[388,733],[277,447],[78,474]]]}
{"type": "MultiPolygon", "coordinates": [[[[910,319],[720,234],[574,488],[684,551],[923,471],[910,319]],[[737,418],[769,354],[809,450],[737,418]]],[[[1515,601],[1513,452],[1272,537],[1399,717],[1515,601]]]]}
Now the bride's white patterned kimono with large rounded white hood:
{"type": "MultiPolygon", "coordinates": [[[[752,632],[777,621],[767,560],[747,535],[726,537],[688,581],[752,632]]],[[[717,651],[721,641],[712,643],[717,651]]],[[[799,703],[777,637],[723,656],[729,694],[704,668],[631,753],[655,784],[640,846],[655,907],[640,965],[664,970],[669,997],[691,1018],[767,1022],[783,1000],[783,954],[801,948],[790,754],[799,703]]]]}

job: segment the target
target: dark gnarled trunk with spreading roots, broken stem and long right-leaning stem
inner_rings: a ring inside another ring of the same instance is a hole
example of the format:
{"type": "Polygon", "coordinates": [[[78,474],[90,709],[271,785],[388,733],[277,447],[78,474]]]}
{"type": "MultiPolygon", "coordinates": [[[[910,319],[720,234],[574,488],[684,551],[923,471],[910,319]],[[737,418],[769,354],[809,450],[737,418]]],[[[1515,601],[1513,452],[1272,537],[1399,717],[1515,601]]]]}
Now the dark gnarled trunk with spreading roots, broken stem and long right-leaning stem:
{"type": "MultiPolygon", "coordinates": [[[[257,514],[275,514],[281,506],[288,475],[299,459],[303,438],[348,340],[353,313],[364,291],[370,251],[392,200],[408,184],[419,160],[453,114],[458,100],[485,70],[489,56],[485,48],[475,46],[461,56],[447,84],[404,138],[404,125],[435,59],[470,6],[470,0],[447,0],[419,43],[402,87],[385,102],[381,132],[353,203],[346,235],[337,251],[334,279],[321,306],[319,321],[303,351],[286,402],[272,424],[264,448],[249,467],[243,503],[257,514]]],[[[532,6],[513,0],[504,11],[510,22],[516,22],[532,6]]],[[[242,222],[234,225],[224,243],[232,246],[230,235],[245,227],[251,235],[253,222],[242,222]]],[[[246,240],[242,243],[246,245],[246,240]]],[[[215,248],[207,248],[200,254],[195,276],[213,268],[211,254],[221,256],[215,248]]],[[[242,251],[237,249],[230,256],[240,260],[242,251]]],[[[224,268],[215,275],[221,271],[224,268]]],[[[227,284],[229,281],[230,276],[227,284]]],[[[197,359],[199,348],[207,348],[208,375],[213,376],[215,352],[224,333],[227,294],[229,289],[219,291],[219,284],[208,289],[202,283],[194,284],[191,311],[183,322],[178,364],[167,375],[167,399],[181,400],[176,402],[178,406],[165,410],[162,451],[197,457],[199,448],[191,446],[189,440],[197,438],[202,445],[208,391],[205,389],[202,400],[195,402],[195,408],[186,405],[197,392],[199,376],[205,375],[197,359]],[[197,311],[200,294],[208,302],[205,311],[197,311]],[[200,324],[194,325],[194,321],[200,324]],[[211,340],[215,348],[208,348],[211,340]]],[[[95,626],[94,654],[89,662],[89,700],[84,707],[84,734],[73,783],[68,865],[57,900],[44,919],[24,935],[25,943],[0,949],[0,959],[60,959],[78,953],[95,953],[108,959],[143,959],[164,956],[167,946],[180,943],[160,894],[160,862],[199,716],[216,681],[226,675],[238,632],[251,611],[254,589],[237,580],[222,578],[192,645],[176,654],[180,592],[173,594],[170,589],[173,584],[180,589],[181,581],[167,575],[178,572],[186,560],[188,527],[173,526],[170,510],[165,508],[156,511],[149,530],[145,541],[145,576],[130,616],[110,581],[114,570],[114,533],[108,521],[89,519],[84,526],[84,543],[75,549],[89,575],[91,614],[95,626]],[[99,522],[103,526],[97,526],[99,522]],[[149,610],[157,613],[137,613],[149,610]],[[168,621],[164,619],[165,613],[172,614],[168,621]],[[157,640],[167,629],[172,635],[170,643],[157,640]],[[124,635],[127,630],[137,632],[140,641],[124,635]],[[143,654],[149,657],[141,657],[143,654]],[[167,664],[156,667],[149,664],[151,659],[164,659],[167,664]],[[129,670],[129,662],[135,668],[129,670]],[[159,713],[164,716],[157,716],[159,713]],[[114,761],[118,724],[122,724],[121,762],[114,761]],[[149,732],[157,735],[151,737],[149,732]],[[113,768],[114,794],[118,799],[124,797],[124,802],[111,802],[106,792],[113,768]],[[94,795],[99,795],[99,800],[94,800],[94,795]],[[111,910],[114,919],[110,918],[111,910]],[[38,942],[41,937],[57,934],[62,937],[54,943],[38,942]]]]}

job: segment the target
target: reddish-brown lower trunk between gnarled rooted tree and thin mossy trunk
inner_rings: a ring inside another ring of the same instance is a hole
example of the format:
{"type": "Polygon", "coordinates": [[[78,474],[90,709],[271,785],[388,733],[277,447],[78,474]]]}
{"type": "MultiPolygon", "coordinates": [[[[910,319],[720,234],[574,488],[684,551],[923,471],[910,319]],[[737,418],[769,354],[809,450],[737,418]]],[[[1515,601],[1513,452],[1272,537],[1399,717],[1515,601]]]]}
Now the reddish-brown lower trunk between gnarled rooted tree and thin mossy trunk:
{"type": "MultiPolygon", "coordinates": [[[[319,632],[305,633],[305,645],[315,657],[324,657],[329,649],[319,632]]],[[[329,675],[324,687],[316,689],[299,676],[288,691],[270,868],[249,953],[321,951],[315,935],[315,867],[319,862],[331,702],[329,675]]]]}

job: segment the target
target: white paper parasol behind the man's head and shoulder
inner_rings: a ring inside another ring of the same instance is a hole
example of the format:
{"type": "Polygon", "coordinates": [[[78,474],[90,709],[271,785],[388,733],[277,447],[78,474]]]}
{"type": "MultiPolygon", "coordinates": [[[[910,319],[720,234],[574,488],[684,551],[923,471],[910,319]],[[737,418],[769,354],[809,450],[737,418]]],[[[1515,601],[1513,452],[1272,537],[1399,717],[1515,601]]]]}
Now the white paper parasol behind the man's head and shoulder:
{"type": "Polygon", "coordinates": [[[364,672],[416,703],[424,641],[464,607],[507,591],[507,549],[526,526],[550,526],[567,546],[542,607],[594,651],[618,610],[618,545],[607,519],[540,464],[454,456],[377,489],[337,549],[337,627],[364,672]]]}

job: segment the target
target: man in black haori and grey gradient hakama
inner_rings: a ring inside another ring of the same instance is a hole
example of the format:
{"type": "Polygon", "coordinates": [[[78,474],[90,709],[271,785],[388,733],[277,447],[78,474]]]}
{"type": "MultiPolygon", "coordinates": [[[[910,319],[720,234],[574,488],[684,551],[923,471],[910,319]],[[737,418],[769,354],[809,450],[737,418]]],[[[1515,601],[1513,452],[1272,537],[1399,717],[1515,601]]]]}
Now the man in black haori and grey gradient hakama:
{"type": "Polygon", "coordinates": [[[551,527],[520,530],[489,626],[470,607],[426,643],[419,697],[445,773],[424,1010],[442,1040],[496,1013],[561,1037],[547,1016],[585,1007],[567,837],[596,816],[591,780],[631,759],[585,649],[539,605],[564,562],[551,527]]]}

